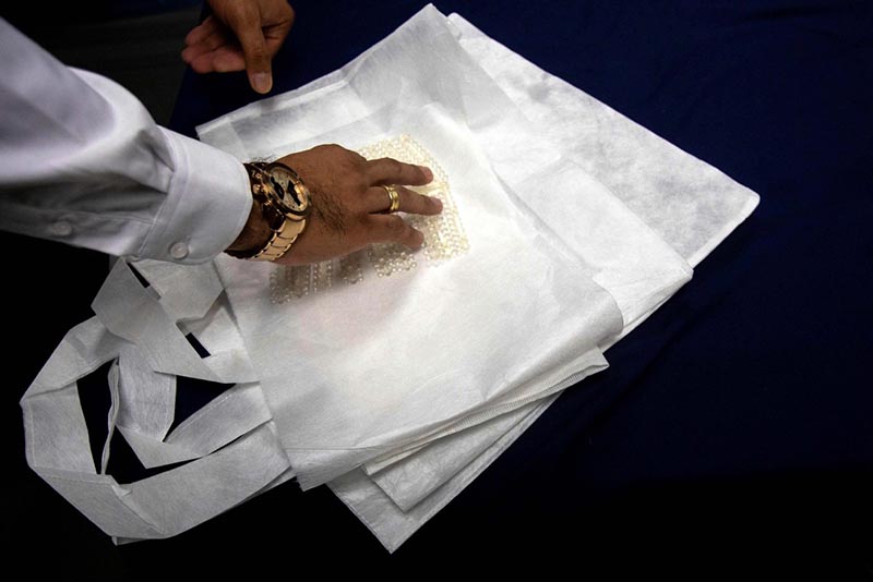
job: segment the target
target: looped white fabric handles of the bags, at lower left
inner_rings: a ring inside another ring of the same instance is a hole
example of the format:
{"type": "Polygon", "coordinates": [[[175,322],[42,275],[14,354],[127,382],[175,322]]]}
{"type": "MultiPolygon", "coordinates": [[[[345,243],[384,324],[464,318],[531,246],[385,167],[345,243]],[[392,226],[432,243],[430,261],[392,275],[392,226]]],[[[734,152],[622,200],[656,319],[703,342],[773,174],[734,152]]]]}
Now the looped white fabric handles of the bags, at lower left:
{"type": "Polygon", "coordinates": [[[94,301],[97,315],[68,332],[21,400],[31,468],[119,543],[176,535],[294,476],[234,326],[210,313],[222,292],[212,265],[168,271],[145,262],[139,270],[154,276],[160,296],[119,260],[94,301]],[[214,355],[196,354],[177,327],[183,319],[201,322],[214,355]],[[108,434],[95,463],[77,380],[108,362],[108,434]],[[177,375],[237,384],[168,434],[177,375]],[[146,468],[191,462],[118,483],[106,472],[116,428],[146,468]]]}

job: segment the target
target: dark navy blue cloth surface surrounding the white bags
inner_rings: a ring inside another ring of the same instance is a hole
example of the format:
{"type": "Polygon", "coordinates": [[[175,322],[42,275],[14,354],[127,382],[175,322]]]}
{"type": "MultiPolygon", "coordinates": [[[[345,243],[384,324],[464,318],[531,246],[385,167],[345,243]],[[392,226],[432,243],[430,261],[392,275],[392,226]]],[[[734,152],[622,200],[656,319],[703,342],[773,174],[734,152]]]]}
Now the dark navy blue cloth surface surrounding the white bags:
{"type": "MultiPolygon", "coordinates": [[[[274,93],[423,5],[294,4],[274,93]]],[[[177,538],[113,548],[27,473],[21,448],[7,453],[15,495],[40,518],[9,528],[60,529],[47,543],[71,571],[240,559],[287,575],[306,560],[464,571],[475,557],[583,574],[873,575],[873,4],[435,4],[756,191],[760,207],[609,351],[610,369],[567,390],[393,557],[325,488],[295,484],[177,538]]],[[[189,73],[172,125],[193,134],[255,97],[241,75],[189,73]]]]}

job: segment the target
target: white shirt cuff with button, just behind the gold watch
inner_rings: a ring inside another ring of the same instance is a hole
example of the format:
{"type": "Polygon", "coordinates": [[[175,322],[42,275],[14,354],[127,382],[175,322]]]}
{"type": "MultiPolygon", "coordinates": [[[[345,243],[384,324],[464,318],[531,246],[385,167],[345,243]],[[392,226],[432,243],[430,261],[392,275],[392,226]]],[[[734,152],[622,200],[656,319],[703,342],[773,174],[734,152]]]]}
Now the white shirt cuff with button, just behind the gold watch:
{"type": "Polygon", "coordinates": [[[249,174],[230,154],[164,128],[160,131],[174,173],[140,257],[205,263],[230,246],[249,219],[249,174]]]}

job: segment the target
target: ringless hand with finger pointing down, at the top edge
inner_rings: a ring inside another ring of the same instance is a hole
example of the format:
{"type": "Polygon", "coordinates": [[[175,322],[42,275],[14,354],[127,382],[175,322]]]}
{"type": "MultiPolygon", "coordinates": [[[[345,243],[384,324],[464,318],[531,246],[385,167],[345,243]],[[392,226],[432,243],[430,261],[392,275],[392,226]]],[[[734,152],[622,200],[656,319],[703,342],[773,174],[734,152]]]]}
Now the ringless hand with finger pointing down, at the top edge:
{"type": "Polygon", "coordinates": [[[246,70],[258,93],[273,88],[271,60],[288,36],[287,0],[208,0],[212,15],[186,36],[182,60],[198,73],[246,70]]]}

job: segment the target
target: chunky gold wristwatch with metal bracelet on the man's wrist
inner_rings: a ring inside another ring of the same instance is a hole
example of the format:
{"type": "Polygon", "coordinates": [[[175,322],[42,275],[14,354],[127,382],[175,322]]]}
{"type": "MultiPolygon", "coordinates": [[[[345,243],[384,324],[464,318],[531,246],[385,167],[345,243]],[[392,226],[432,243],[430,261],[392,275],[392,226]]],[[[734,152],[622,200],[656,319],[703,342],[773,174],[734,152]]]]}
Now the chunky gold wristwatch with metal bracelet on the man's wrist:
{"type": "Polygon", "coordinates": [[[260,208],[272,235],[262,247],[225,251],[250,260],[276,260],[287,253],[307,227],[311,210],[309,189],[296,171],[273,163],[244,163],[252,185],[254,204],[260,208]]]}

